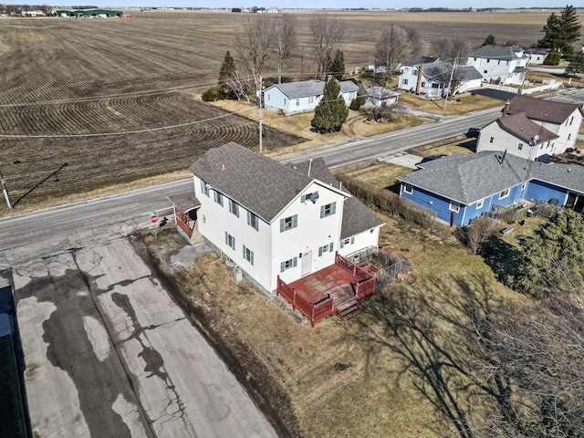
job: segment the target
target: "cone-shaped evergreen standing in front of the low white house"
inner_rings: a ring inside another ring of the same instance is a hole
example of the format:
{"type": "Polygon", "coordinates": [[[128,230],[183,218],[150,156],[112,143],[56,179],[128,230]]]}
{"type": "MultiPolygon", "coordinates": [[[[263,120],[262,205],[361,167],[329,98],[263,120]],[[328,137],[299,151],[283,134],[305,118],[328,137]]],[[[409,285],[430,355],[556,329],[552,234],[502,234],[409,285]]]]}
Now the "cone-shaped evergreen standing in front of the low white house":
{"type": "Polygon", "coordinates": [[[322,99],[314,110],[314,119],[310,125],[321,134],[338,131],[349,116],[349,109],[345,100],[340,96],[340,86],[332,78],[325,85],[322,99]]]}

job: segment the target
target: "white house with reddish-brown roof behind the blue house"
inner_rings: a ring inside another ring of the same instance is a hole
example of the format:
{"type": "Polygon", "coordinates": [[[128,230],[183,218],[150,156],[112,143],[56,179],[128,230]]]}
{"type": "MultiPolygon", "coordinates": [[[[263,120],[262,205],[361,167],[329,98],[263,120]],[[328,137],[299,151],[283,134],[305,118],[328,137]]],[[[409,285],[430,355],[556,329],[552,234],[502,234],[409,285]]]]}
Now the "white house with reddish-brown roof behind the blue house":
{"type": "Polygon", "coordinates": [[[581,122],[579,105],[516,96],[506,103],[502,117],[481,130],[476,151],[507,151],[545,162],[548,155],[574,147],[581,122]]]}

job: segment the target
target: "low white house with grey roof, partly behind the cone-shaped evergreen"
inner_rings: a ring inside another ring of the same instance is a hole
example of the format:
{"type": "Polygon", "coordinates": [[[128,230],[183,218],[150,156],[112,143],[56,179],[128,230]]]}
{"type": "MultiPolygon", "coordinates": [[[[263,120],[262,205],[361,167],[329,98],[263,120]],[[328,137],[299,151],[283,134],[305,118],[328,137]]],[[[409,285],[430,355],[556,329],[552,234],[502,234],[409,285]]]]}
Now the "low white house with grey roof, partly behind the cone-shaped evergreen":
{"type": "MultiPolygon", "coordinates": [[[[264,90],[264,106],[282,110],[287,116],[312,111],[322,99],[326,82],[318,79],[276,84],[264,90]]],[[[339,81],[340,95],[347,106],[357,98],[359,86],[352,80],[339,81]]]]}

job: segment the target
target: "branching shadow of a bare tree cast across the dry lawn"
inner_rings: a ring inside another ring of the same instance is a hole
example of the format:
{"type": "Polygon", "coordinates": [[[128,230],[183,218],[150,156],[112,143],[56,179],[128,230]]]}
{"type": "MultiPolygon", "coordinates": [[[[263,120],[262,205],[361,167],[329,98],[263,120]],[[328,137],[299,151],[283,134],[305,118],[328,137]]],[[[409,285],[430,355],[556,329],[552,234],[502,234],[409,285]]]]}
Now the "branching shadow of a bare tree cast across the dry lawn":
{"type": "Polygon", "coordinates": [[[369,363],[380,349],[397,354],[401,368],[395,372],[411,374],[415,391],[445,420],[437,433],[495,435],[485,433],[493,418],[516,422],[510,381],[485,348],[489,315],[498,305],[480,276],[394,285],[365,305],[359,337],[369,344],[369,363]]]}

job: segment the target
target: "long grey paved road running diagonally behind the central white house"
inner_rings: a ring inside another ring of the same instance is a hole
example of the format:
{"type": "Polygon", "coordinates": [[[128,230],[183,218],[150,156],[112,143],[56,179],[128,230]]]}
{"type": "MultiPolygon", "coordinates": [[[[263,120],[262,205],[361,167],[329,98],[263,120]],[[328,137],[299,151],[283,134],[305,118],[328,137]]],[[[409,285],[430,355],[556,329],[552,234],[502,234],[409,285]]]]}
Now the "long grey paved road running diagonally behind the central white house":
{"type": "MultiPolygon", "coordinates": [[[[553,99],[582,104],[584,90],[570,89],[556,93],[553,99]]],[[[376,159],[406,151],[414,146],[453,137],[469,128],[481,128],[495,120],[499,111],[497,108],[459,117],[446,117],[432,124],[289,156],[282,161],[299,162],[310,157],[322,157],[330,168],[335,168],[353,162],[376,159]]],[[[27,257],[49,255],[67,248],[71,245],[72,237],[88,233],[98,227],[110,225],[110,231],[115,234],[147,226],[148,213],[151,210],[156,210],[159,214],[171,214],[167,195],[186,191],[192,184],[190,179],[166,183],[85,203],[74,203],[1,219],[0,268],[3,263],[2,254],[6,255],[9,263],[11,261],[17,263],[19,260],[26,260],[27,257]],[[13,251],[16,248],[18,251],[13,251]]]]}

